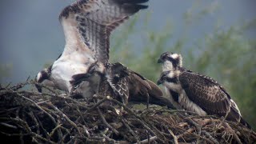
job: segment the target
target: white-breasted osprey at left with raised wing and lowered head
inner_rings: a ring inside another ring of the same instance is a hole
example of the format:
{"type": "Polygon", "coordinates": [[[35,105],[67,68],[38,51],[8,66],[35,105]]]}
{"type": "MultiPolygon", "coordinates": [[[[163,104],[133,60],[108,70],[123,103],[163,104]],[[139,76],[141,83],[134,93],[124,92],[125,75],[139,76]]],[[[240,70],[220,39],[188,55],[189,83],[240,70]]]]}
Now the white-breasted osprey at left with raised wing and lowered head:
{"type": "MultiPolygon", "coordinates": [[[[141,3],[147,1],[80,0],[66,6],[59,15],[65,48],[52,66],[38,73],[36,81],[70,93],[74,75],[86,74],[95,62],[101,63],[104,70],[109,60],[110,32],[130,15],[146,9],[141,3]]],[[[93,91],[90,85],[83,82],[83,87],[88,89],[85,91],[93,91]]]]}

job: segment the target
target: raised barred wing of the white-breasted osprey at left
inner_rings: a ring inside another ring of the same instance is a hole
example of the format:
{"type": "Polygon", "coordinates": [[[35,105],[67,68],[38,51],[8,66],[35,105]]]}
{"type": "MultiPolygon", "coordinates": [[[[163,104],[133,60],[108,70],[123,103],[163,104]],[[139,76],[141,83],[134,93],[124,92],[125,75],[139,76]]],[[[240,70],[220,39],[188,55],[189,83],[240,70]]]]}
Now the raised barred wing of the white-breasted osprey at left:
{"type": "Polygon", "coordinates": [[[148,0],[80,0],[59,16],[66,38],[63,54],[74,50],[94,55],[99,62],[109,59],[110,32],[130,15],[147,6],[148,0]]]}

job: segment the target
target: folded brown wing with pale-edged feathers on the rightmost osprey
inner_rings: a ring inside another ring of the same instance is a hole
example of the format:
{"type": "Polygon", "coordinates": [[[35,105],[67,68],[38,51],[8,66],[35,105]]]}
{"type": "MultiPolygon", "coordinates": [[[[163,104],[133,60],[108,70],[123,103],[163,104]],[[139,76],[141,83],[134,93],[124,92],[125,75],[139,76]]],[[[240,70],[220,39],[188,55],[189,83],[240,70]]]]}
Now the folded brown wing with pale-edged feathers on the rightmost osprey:
{"type": "Polygon", "coordinates": [[[179,76],[182,88],[190,100],[205,110],[207,114],[225,116],[239,121],[241,114],[238,106],[222,86],[202,74],[185,71],[179,76]]]}

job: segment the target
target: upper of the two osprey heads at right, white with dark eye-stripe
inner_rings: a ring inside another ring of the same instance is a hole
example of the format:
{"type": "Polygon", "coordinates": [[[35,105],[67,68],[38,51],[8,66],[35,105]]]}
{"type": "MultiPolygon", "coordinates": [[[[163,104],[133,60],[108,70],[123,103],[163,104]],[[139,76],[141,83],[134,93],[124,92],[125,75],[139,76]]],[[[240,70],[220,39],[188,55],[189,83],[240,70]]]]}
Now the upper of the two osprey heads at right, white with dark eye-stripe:
{"type": "Polygon", "coordinates": [[[161,54],[158,63],[162,63],[163,71],[176,70],[178,67],[182,67],[182,55],[165,52],[161,54]]]}

